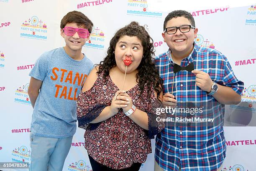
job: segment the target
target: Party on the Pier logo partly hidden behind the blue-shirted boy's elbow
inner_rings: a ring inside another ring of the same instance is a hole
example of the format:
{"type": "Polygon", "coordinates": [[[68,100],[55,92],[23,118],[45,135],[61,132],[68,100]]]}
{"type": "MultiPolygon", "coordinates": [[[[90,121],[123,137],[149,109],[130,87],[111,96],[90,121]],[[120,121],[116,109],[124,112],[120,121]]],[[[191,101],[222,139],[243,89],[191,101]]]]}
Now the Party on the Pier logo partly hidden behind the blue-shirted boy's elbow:
{"type": "Polygon", "coordinates": [[[28,97],[28,86],[29,86],[29,83],[26,85],[23,85],[22,87],[18,87],[15,90],[14,102],[31,105],[30,99],[28,97]]]}

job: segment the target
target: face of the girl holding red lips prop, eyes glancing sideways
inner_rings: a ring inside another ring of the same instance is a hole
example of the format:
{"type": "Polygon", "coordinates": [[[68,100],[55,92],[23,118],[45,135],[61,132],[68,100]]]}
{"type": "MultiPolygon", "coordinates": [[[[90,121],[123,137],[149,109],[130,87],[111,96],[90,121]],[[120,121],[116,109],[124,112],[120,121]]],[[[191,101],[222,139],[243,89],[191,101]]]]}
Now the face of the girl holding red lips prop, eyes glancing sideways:
{"type": "Polygon", "coordinates": [[[125,72],[125,58],[131,59],[131,64],[127,67],[127,73],[137,69],[143,56],[143,46],[138,37],[123,36],[120,37],[115,45],[115,62],[121,72],[125,72]]]}

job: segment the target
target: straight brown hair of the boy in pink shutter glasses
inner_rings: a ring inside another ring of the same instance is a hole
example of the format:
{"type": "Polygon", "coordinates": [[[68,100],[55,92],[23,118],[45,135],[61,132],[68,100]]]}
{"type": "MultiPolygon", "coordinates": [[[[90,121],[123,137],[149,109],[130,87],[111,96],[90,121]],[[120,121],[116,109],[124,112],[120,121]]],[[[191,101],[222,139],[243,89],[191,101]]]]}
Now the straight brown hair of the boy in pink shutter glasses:
{"type": "Polygon", "coordinates": [[[61,29],[63,29],[67,25],[67,23],[77,23],[79,27],[81,25],[84,25],[90,33],[92,32],[93,23],[82,12],[68,12],[61,20],[61,29]]]}

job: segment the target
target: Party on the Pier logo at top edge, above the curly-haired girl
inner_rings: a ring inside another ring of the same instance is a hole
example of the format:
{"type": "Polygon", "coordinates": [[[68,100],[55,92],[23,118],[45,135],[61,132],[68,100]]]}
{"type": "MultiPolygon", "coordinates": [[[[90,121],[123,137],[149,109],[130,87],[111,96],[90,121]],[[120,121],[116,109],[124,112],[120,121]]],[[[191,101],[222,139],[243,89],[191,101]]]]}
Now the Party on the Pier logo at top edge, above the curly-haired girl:
{"type": "Polygon", "coordinates": [[[161,18],[162,13],[148,11],[147,0],[128,0],[127,15],[161,18]]]}

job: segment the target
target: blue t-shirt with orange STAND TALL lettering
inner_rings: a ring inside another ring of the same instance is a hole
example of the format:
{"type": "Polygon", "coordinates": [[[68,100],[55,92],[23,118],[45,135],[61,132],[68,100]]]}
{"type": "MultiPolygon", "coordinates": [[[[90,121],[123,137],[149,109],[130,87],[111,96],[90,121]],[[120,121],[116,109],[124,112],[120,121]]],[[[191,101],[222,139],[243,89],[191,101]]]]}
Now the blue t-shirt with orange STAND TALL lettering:
{"type": "Polygon", "coordinates": [[[73,136],[77,126],[77,96],[93,63],[85,55],[81,61],[69,57],[63,47],[45,52],[29,76],[43,81],[34,107],[31,132],[37,136],[73,136]]]}

